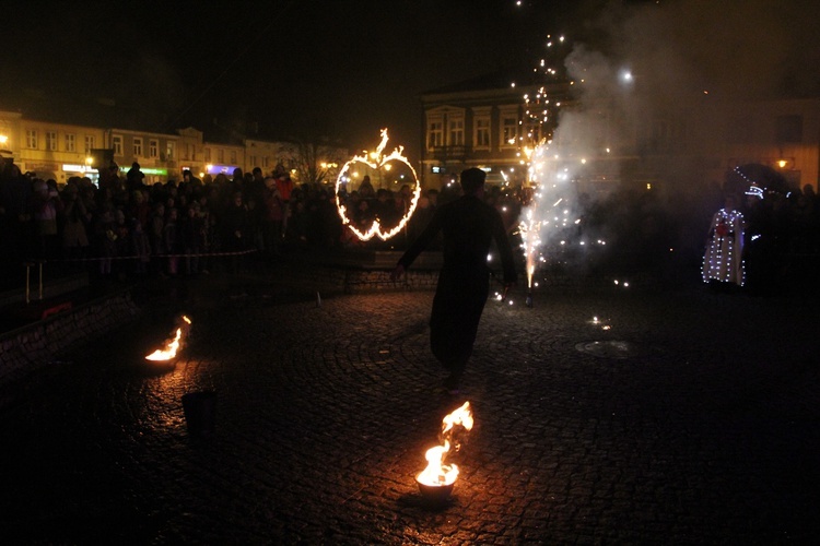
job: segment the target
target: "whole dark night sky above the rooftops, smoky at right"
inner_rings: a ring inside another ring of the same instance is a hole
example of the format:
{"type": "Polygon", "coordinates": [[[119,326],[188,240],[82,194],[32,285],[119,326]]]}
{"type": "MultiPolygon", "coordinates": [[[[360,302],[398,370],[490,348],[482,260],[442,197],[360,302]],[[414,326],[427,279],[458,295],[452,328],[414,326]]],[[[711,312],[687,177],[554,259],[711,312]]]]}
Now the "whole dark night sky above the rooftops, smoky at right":
{"type": "Polygon", "coordinates": [[[7,0],[0,100],[107,97],[156,112],[166,132],[258,122],[260,136],[327,135],[355,151],[387,127],[417,159],[420,93],[535,67],[549,34],[631,63],[657,96],[670,83],[815,92],[819,3],[7,0]]]}

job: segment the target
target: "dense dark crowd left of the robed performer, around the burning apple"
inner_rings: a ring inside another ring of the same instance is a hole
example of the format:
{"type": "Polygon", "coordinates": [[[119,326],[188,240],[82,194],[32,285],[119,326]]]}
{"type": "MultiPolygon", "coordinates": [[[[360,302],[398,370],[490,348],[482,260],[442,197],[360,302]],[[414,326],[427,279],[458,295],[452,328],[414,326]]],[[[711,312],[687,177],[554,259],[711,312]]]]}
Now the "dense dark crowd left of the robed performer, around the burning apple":
{"type": "MultiPolygon", "coordinates": [[[[418,214],[389,244],[362,241],[342,225],[333,187],[294,185],[283,169],[235,169],[145,183],[138,164],[116,165],[99,179],[54,179],[7,163],[0,176],[0,256],[7,287],[23,282],[26,264],[47,275],[89,271],[99,280],[238,272],[254,260],[288,252],[397,248],[429,219],[437,192],[419,200],[418,214]]],[[[351,223],[366,230],[378,219],[395,226],[408,212],[409,186],[373,190],[363,183],[340,198],[351,223]]]]}

